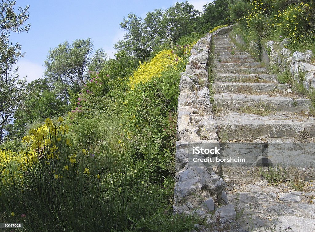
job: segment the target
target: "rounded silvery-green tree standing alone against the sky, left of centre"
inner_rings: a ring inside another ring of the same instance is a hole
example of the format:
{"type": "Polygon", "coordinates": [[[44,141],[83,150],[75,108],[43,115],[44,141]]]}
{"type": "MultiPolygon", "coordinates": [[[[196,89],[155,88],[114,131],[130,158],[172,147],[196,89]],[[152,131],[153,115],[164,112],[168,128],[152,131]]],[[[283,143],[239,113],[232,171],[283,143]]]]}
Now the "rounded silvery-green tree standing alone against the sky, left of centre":
{"type": "Polygon", "coordinates": [[[93,44],[88,39],[77,39],[70,45],[67,41],[57,48],[50,49],[45,60],[45,76],[52,81],[61,80],[72,87],[86,82],[85,72],[93,44]]]}

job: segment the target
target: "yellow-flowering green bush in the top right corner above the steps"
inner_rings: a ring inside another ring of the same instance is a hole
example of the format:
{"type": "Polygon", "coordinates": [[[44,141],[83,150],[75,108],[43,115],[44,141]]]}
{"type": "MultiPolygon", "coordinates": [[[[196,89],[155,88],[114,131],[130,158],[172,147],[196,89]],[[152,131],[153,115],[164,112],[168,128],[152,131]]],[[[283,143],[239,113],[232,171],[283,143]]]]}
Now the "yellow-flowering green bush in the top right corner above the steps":
{"type": "MultiPolygon", "coordinates": [[[[286,37],[296,45],[315,39],[315,4],[311,1],[250,0],[246,4],[248,13],[241,20],[249,29],[250,40],[286,37]]],[[[234,4],[233,9],[240,6],[234,4]]]]}

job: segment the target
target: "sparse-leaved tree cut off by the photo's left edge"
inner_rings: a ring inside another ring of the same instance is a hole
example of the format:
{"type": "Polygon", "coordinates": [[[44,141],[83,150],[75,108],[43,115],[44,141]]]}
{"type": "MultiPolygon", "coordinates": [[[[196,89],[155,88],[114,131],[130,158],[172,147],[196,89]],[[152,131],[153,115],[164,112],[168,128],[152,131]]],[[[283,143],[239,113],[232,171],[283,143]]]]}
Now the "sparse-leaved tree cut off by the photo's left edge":
{"type": "Polygon", "coordinates": [[[6,140],[21,109],[24,99],[26,80],[20,80],[18,69],[13,65],[24,54],[21,45],[10,42],[10,32],[24,32],[30,29],[30,24],[24,25],[29,18],[28,8],[19,7],[19,13],[14,11],[16,1],[2,0],[0,6],[0,144],[6,140]]]}

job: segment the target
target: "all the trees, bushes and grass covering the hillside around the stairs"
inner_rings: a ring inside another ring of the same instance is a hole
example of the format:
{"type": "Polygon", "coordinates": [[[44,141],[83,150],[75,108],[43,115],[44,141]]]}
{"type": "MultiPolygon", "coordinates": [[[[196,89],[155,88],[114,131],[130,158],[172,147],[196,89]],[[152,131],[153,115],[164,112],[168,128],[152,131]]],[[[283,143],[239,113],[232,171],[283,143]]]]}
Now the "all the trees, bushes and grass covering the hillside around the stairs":
{"type": "Polygon", "coordinates": [[[89,38],[60,43],[48,52],[44,78],[26,84],[9,72],[22,54],[8,31],[29,30],[28,7],[17,14],[3,0],[0,223],[23,222],[22,231],[190,231],[204,224],[172,211],[178,86],[190,49],[235,21],[248,40],[282,36],[298,47],[315,37],[310,3],[233,3],[215,0],[202,13],[175,3],[143,20],[129,14],[116,59],[94,51],[89,38]]]}

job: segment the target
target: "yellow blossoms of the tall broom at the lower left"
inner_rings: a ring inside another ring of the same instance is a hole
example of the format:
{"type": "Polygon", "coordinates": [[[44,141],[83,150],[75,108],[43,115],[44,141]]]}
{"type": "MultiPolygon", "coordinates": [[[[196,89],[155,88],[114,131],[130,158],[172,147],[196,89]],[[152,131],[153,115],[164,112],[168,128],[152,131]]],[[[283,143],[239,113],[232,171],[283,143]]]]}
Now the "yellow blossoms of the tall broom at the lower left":
{"type": "MultiPolygon", "coordinates": [[[[13,179],[15,181],[22,179],[25,173],[32,170],[34,163],[39,161],[44,165],[50,165],[51,162],[59,160],[61,150],[67,150],[72,146],[67,138],[68,132],[69,126],[64,123],[62,117],[59,117],[57,126],[47,118],[43,126],[30,129],[28,135],[23,137],[25,149],[19,153],[0,150],[0,177],[3,182],[12,183],[13,179]]],[[[67,157],[69,165],[75,163],[75,158],[75,152],[67,157]]],[[[54,177],[61,176],[56,173],[54,177]]]]}

